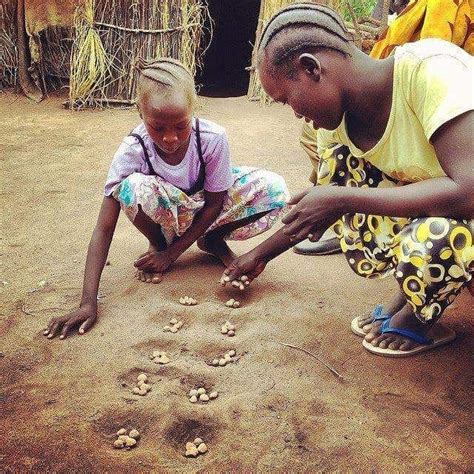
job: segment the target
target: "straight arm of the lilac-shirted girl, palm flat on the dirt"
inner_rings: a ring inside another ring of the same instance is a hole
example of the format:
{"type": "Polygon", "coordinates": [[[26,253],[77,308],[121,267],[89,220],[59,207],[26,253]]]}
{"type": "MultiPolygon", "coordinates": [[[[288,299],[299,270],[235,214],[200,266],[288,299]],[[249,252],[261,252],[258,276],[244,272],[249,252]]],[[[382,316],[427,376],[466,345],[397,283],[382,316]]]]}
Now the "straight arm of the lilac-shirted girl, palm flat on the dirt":
{"type": "Polygon", "coordinates": [[[64,339],[68,331],[78,325],[80,325],[79,334],[84,334],[96,321],[100,276],[107,260],[119,213],[120,204],[110,196],[104,197],[87,251],[79,309],[65,316],[51,319],[44,331],[44,335],[48,336],[48,339],[53,338],[59,332],[61,333],[60,339],[64,339]]]}

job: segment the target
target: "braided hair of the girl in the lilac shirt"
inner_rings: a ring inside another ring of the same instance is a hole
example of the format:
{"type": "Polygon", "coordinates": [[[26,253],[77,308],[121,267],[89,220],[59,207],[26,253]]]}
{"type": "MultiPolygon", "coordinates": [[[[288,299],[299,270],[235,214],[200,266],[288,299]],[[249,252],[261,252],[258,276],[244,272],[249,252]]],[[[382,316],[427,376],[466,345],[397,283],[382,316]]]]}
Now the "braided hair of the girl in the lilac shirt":
{"type": "Polygon", "coordinates": [[[144,100],[150,93],[166,96],[173,90],[178,90],[185,95],[192,107],[195,106],[197,96],[194,77],[181,62],[173,58],[141,60],[137,69],[140,71],[138,102],[144,100]]]}

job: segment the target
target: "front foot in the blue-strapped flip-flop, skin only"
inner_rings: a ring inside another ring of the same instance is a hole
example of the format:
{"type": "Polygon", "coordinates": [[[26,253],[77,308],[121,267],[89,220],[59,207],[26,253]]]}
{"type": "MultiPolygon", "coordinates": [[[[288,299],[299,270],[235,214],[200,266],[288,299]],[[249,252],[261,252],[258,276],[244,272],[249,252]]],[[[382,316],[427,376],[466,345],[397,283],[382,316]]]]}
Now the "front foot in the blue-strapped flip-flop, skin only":
{"type": "MultiPolygon", "coordinates": [[[[412,331],[420,336],[428,336],[428,333],[432,329],[431,325],[423,324],[413,313],[413,309],[407,303],[405,306],[392,316],[390,319],[390,327],[398,329],[406,329],[412,331]]],[[[375,347],[382,349],[393,349],[401,351],[409,351],[417,346],[417,343],[408,337],[401,336],[399,334],[382,334],[380,326],[374,327],[367,336],[364,338],[367,342],[375,347]]]]}

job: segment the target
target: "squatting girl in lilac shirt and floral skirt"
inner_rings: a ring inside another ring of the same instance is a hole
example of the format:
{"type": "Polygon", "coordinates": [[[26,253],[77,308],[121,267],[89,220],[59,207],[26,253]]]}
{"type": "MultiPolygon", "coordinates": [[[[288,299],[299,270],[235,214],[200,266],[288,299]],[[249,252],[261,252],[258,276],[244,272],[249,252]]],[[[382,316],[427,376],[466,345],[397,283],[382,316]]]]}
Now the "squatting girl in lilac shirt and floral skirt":
{"type": "Polygon", "coordinates": [[[120,209],[148,239],[135,261],[137,278],[159,283],[194,242],[225,265],[235,259],[225,240],[245,240],[268,230],[289,199],[283,178],[270,171],[232,168],[222,127],[193,116],[194,79],[173,59],[143,65],[138,108],[143,122],[114,156],[105,196],[87,253],[78,310],[53,318],[53,338],[97,318],[99,280],[120,209]]]}

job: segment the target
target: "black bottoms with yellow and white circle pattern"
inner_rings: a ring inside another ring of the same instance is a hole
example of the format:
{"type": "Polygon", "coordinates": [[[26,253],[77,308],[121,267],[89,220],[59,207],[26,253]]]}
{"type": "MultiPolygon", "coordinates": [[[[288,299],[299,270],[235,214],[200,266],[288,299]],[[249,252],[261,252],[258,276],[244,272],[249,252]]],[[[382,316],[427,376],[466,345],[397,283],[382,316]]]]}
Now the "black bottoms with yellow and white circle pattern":
{"type": "MultiPolygon", "coordinates": [[[[393,187],[397,183],[338,145],[320,161],[318,184],[393,187]]],[[[334,231],[351,268],[366,278],[394,275],[418,319],[433,323],[474,272],[474,220],[345,214],[334,231]]]]}

